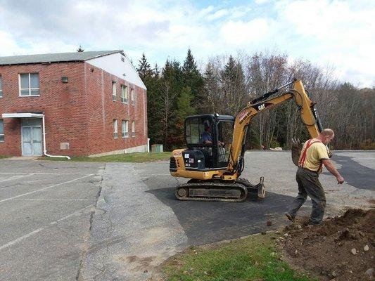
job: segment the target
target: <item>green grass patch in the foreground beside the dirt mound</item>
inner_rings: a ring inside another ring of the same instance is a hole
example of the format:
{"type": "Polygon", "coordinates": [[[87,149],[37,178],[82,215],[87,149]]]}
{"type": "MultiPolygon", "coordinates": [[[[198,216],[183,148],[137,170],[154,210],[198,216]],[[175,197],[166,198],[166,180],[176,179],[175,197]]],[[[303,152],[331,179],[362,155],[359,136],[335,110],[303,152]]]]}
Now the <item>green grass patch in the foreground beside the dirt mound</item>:
{"type": "Polygon", "coordinates": [[[168,281],[307,281],[281,261],[274,234],[191,247],[163,265],[168,281]]]}

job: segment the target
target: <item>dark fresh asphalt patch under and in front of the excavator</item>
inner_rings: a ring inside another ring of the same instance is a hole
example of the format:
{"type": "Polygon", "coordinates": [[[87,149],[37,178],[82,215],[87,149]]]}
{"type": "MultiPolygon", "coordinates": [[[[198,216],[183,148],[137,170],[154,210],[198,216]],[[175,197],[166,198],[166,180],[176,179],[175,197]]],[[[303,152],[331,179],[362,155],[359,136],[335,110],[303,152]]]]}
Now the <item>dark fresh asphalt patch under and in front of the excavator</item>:
{"type": "Polygon", "coordinates": [[[192,245],[234,239],[288,224],[284,213],[293,200],[267,192],[263,200],[249,195],[241,203],[194,202],[177,200],[174,188],[148,192],[172,208],[192,245]],[[267,221],[272,221],[271,227],[267,227],[267,221]]]}

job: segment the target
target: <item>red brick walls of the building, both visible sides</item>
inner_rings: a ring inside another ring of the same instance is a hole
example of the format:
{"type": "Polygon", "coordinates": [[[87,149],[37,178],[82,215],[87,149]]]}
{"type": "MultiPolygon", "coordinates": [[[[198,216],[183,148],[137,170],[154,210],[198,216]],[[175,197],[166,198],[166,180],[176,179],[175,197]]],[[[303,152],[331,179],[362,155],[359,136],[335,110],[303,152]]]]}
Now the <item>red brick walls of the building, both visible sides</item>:
{"type": "MultiPolygon", "coordinates": [[[[1,65],[3,98],[2,113],[44,112],[46,116],[46,148],[51,155],[92,155],[144,145],[144,98],[146,91],[134,85],[136,104],[123,105],[117,79],[88,63],[52,63],[49,65],[1,65]],[[91,71],[94,70],[94,71],[91,71]],[[20,97],[19,73],[39,72],[40,96],[20,97]],[[63,83],[61,77],[68,77],[63,83]],[[112,80],[117,83],[117,103],[112,101],[112,80]],[[117,139],[113,138],[113,119],[118,119],[117,139]],[[136,137],[122,139],[121,119],[136,121],[136,137]],[[60,143],[70,143],[69,150],[60,150],[60,143]]],[[[0,143],[0,155],[21,155],[20,119],[4,119],[5,142],[0,143]]]]}

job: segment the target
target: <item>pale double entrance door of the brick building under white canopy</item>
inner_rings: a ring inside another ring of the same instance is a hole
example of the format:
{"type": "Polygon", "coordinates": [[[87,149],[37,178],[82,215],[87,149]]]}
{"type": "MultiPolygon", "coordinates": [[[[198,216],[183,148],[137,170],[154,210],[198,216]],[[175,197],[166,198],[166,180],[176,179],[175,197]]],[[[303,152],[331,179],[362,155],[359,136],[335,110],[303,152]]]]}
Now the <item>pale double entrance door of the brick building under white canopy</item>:
{"type": "Polygon", "coordinates": [[[22,155],[42,156],[42,120],[23,118],[21,127],[22,155]]]}

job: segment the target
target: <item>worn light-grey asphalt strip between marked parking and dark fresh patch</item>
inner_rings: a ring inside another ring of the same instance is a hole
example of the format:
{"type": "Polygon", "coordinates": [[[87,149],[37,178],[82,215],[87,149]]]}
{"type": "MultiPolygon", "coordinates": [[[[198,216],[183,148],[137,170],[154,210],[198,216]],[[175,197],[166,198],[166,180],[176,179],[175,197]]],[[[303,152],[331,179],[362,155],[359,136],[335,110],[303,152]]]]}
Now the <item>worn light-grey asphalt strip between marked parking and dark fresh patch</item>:
{"type": "Polygon", "coordinates": [[[133,164],[108,163],[78,280],[147,280],[187,247],[172,209],[141,181],[133,164]]]}

